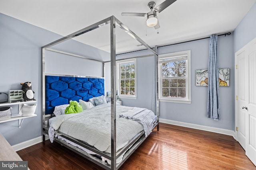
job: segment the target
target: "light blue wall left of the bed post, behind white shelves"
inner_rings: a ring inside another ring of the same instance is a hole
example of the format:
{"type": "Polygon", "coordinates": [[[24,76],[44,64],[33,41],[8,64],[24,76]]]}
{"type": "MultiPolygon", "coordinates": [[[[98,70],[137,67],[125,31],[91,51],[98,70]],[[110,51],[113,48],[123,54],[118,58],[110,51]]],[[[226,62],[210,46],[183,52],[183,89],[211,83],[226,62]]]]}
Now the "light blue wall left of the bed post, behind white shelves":
{"type": "MultiPolygon", "coordinates": [[[[0,91],[21,90],[21,82],[32,82],[37,100],[37,117],[0,124],[0,133],[10,145],[15,145],[42,134],[42,59],[40,47],[60,36],[28,23],[0,14],[0,91]]],[[[17,107],[13,113],[17,113],[17,107]]]]}

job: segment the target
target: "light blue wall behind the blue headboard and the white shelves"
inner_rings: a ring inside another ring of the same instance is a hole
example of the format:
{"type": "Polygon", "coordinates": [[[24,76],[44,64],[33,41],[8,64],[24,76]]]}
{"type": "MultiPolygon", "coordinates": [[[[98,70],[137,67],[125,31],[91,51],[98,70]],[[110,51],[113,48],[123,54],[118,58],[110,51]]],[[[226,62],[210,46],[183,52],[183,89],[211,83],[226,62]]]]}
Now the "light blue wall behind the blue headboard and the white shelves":
{"type": "MultiPolygon", "coordinates": [[[[32,90],[35,92],[34,98],[37,100],[35,113],[37,116],[24,119],[21,129],[18,129],[18,120],[0,123],[0,133],[10,145],[16,145],[42,135],[41,47],[61,37],[45,29],[0,13],[0,92],[7,93],[8,90],[21,90],[21,82],[31,81],[32,90]]],[[[101,58],[109,56],[109,53],[88,47],[74,40],[56,48],[66,49],[68,52],[76,51],[76,54],[87,55],[88,57],[96,56],[101,58]],[[69,47],[71,48],[69,49],[69,47]]],[[[48,73],[65,74],[73,71],[74,74],[80,76],[102,77],[102,64],[99,64],[98,72],[95,73],[94,69],[91,68],[92,62],[84,61],[83,67],[74,66],[71,64],[72,61],[70,61],[69,57],[63,55],[60,61],[68,61],[70,63],[63,69],[63,64],[56,62],[55,57],[57,56],[60,57],[56,54],[48,56],[50,59],[52,57],[52,61],[55,62],[50,67],[47,67],[48,73]],[[60,72],[60,69],[67,72],[60,72]]],[[[73,60],[76,62],[76,60],[80,59],[73,60]]],[[[18,112],[17,106],[14,106],[12,112],[14,114],[18,112]]]]}

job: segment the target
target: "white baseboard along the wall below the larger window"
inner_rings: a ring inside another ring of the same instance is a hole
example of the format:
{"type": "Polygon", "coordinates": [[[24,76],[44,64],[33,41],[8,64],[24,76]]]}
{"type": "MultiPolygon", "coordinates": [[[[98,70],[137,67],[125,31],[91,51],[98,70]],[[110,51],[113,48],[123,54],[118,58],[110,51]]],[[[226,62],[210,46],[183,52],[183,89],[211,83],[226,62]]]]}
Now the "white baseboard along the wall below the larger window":
{"type": "Polygon", "coordinates": [[[209,132],[214,132],[214,133],[220,133],[220,134],[232,136],[232,137],[234,137],[234,139],[236,139],[235,132],[232,130],[228,130],[228,129],[221,129],[221,128],[217,128],[217,127],[209,127],[209,126],[197,125],[197,124],[193,124],[193,123],[173,121],[173,120],[168,120],[168,119],[159,119],[159,122],[167,123],[167,124],[171,124],[171,125],[182,126],[182,127],[189,127],[192,129],[198,129],[198,130],[209,131],[209,132]]]}

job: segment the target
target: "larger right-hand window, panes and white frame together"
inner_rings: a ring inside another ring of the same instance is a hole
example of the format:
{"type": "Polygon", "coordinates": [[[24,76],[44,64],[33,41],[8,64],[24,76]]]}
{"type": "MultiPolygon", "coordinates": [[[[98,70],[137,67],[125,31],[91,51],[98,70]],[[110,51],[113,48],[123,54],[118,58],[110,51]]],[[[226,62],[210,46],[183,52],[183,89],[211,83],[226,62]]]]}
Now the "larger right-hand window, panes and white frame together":
{"type": "Polygon", "coordinates": [[[159,55],[160,101],[191,103],[190,50],[159,55]]]}

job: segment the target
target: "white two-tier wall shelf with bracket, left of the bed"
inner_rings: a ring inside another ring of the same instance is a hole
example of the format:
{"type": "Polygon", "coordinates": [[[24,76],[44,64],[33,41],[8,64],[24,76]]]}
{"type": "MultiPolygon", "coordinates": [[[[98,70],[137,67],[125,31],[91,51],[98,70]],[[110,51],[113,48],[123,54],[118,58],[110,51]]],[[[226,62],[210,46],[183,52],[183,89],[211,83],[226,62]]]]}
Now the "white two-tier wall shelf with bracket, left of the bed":
{"type": "Polygon", "coordinates": [[[27,101],[27,102],[15,102],[15,103],[1,103],[0,104],[0,107],[1,106],[12,106],[12,105],[19,105],[19,114],[18,115],[15,115],[15,116],[12,116],[10,119],[7,119],[7,120],[3,120],[3,121],[0,121],[0,123],[4,123],[4,122],[8,122],[8,121],[14,121],[14,120],[19,120],[19,124],[18,124],[18,127],[20,129],[20,126],[23,122],[24,119],[26,118],[29,118],[29,117],[35,117],[37,116],[36,114],[33,114],[31,116],[22,116],[21,114],[21,108],[22,108],[22,105],[23,104],[28,104],[28,103],[36,103],[36,100],[31,100],[31,101],[27,101]]]}

